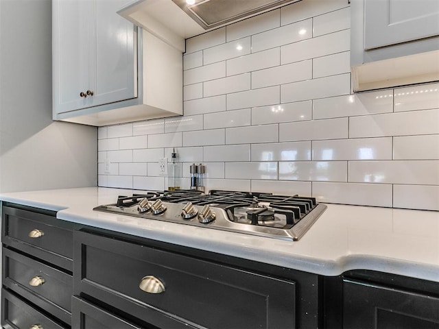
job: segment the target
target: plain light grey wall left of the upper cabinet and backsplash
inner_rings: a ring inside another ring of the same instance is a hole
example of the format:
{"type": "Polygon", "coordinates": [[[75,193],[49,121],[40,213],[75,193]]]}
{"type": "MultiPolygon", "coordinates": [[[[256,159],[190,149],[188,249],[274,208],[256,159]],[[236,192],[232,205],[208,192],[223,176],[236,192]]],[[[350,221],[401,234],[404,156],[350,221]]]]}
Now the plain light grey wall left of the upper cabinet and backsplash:
{"type": "Polygon", "coordinates": [[[51,1],[0,0],[0,192],[96,186],[97,128],[51,120],[51,1]]]}

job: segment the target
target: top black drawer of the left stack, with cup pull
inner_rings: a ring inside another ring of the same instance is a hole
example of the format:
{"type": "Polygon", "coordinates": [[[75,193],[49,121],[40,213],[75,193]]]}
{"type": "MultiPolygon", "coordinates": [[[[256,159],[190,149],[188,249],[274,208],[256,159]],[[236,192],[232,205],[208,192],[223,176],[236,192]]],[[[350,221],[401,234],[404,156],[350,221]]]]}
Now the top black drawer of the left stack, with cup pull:
{"type": "Polygon", "coordinates": [[[3,206],[3,243],[72,271],[73,229],[69,226],[54,216],[3,206]],[[36,230],[39,234],[29,236],[36,230]]]}

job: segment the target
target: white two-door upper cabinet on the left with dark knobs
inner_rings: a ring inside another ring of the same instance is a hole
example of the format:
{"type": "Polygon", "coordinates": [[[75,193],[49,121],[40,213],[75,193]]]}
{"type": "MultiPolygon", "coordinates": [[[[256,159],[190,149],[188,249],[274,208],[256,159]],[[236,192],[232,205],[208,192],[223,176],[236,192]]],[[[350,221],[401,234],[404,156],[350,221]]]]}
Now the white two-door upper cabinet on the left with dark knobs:
{"type": "Polygon", "coordinates": [[[129,1],[52,2],[54,120],[100,126],[182,114],[182,52],[117,14],[129,1]]]}

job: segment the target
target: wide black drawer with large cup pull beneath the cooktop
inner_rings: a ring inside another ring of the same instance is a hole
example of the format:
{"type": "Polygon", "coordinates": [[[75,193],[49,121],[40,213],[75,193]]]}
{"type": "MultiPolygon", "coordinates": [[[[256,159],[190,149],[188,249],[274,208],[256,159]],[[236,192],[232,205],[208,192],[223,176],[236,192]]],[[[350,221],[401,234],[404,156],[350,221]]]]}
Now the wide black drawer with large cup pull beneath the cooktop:
{"type": "Polygon", "coordinates": [[[161,325],[151,321],[154,309],[198,328],[295,327],[294,282],[105,236],[75,232],[74,277],[75,295],[93,296],[155,326],[161,325]],[[141,290],[146,276],[163,282],[165,291],[141,290]]]}

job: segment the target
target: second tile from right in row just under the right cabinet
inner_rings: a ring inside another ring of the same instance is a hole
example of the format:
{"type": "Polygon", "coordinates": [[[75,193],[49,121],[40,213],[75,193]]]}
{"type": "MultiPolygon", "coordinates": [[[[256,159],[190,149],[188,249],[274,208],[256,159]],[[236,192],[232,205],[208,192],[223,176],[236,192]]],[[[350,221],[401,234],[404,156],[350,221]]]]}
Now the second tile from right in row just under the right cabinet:
{"type": "Polygon", "coordinates": [[[313,100],[313,119],[393,112],[393,93],[380,90],[313,100]]]}

